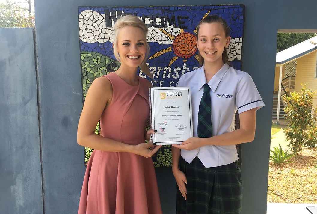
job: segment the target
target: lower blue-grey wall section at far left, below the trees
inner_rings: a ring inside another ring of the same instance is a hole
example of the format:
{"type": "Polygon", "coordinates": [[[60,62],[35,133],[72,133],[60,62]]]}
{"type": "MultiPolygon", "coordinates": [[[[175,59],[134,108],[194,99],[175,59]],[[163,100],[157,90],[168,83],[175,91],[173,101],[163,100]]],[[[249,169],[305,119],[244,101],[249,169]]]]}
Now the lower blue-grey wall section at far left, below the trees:
{"type": "Polygon", "coordinates": [[[0,212],[43,213],[33,30],[0,28],[0,212]]]}

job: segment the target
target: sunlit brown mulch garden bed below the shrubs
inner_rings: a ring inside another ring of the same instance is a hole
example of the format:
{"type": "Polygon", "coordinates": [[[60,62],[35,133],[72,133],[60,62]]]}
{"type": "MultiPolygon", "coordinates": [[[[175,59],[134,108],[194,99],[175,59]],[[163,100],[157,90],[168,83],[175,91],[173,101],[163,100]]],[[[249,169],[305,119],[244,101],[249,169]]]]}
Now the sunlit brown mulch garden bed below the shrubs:
{"type": "Polygon", "coordinates": [[[317,149],[304,148],[280,165],[270,160],[268,202],[317,204],[317,149]]]}

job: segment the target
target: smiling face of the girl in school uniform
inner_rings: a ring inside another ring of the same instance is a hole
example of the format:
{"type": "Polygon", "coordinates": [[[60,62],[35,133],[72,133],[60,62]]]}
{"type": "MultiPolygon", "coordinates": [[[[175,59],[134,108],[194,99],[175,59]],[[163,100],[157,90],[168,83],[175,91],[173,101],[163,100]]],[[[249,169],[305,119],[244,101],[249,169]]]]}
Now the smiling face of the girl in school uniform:
{"type": "Polygon", "coordinates": [[[220,63],[224,48],[228,48],[230,36],[226,37],[221,23],[203,23],[199,27],[197,49],[205,63],[220,63]]]}

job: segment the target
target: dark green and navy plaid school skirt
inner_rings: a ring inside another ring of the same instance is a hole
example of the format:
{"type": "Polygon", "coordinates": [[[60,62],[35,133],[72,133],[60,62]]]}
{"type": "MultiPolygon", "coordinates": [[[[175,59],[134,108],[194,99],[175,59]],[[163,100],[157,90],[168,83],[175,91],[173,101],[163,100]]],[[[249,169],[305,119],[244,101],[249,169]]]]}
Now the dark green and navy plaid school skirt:
{"type": "Polygon", "coordinates": [[[187,178],[187,200],[177,187],[177,214],[241,214],[242,178],[237,161],[205,168],[197,156],[190,164],[180,157],[179,166],[187,178]]]}

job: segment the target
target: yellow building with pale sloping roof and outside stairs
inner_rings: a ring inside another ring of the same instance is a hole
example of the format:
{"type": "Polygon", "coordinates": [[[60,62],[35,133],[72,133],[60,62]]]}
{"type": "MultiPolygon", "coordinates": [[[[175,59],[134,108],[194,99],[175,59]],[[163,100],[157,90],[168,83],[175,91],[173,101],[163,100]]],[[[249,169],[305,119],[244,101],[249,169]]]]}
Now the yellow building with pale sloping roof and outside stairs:
{"type": "MultiPolygon", "coordinates": [[[[300,91],[301,83],[317,90],[317,36],[276,54],[272,117],[276,123],[284,118],[285,107],[281,95],[300,91]]],[[[317,105],[317,99],[313,100],[317,105]]]]}

